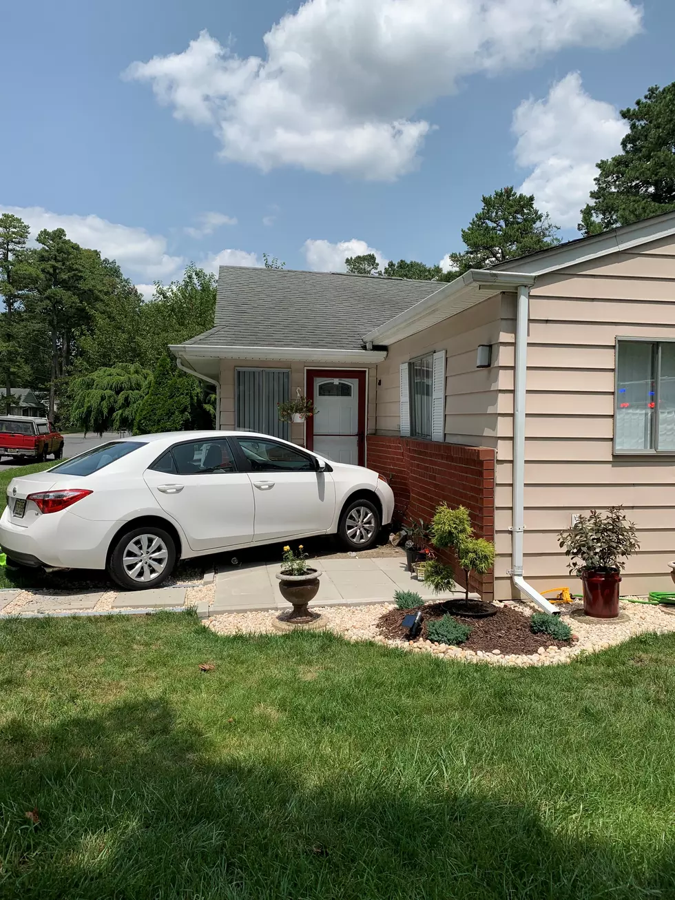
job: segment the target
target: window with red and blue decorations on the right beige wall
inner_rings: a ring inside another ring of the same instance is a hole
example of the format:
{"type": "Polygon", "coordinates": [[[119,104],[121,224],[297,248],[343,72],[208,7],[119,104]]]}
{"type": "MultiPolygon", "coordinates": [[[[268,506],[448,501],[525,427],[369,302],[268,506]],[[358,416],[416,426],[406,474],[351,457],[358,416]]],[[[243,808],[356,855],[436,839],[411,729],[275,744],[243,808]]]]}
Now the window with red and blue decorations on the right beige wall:
{"type": "Polygon", "coordinates": [[[675,342],[618,341],[614,448],[675,453],[675,342]]]}

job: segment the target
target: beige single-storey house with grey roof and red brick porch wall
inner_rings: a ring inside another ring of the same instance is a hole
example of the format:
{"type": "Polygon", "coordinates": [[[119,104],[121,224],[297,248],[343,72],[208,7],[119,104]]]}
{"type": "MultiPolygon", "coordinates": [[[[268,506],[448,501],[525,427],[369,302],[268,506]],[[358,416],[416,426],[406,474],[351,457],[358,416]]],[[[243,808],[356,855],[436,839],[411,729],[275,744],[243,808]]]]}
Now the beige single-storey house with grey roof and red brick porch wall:
{"type": "Polygon", "coordinates": [[[671,589],[675,213],[451,283],[220,268],[216,326],[171,348],[217,385],[220,428],[383,473],[401,517],[464,503],[495,541],[487,597],[581,585],[556,536],[622,505],[622,592],[671,589]],[[319,410],[279,423],[296,391],[319,410]]]}

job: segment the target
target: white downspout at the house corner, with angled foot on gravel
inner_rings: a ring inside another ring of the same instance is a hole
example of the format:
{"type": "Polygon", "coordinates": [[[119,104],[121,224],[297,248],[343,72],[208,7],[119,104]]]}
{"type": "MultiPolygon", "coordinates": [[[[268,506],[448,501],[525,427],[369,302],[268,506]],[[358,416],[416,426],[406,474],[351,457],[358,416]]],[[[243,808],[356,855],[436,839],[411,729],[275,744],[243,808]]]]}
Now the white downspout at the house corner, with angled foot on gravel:
{"type": "Polygon", "coordinates": [[[525,401],[527,397],[527,326],[530,289],[518,287],[516,312],[516,365],[513,392],[513,524],[511,527],[511,581],[527,599],[547,613],[560,610],[527,584],[523,577],[523,532],[525,530],[525,401]]]}

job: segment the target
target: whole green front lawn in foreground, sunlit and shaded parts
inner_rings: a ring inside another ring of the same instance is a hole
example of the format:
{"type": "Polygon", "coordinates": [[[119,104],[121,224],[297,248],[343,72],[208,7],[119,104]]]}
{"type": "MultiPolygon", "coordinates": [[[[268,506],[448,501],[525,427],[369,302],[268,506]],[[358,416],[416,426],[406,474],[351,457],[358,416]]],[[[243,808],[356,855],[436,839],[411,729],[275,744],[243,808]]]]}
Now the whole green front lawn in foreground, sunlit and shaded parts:
{"type": "Polygon", "coordinates": [[[0,895],[671,898],[673,662],[673,635],[511,670],[6,620],[0,895]]]}

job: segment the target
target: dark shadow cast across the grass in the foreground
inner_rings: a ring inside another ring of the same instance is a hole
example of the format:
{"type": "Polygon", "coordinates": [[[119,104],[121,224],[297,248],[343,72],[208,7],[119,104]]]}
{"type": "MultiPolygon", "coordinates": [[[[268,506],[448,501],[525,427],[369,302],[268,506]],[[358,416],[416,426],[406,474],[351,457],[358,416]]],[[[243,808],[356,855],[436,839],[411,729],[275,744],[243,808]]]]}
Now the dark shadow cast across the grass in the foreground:
{"type": "Polygon", "coordinates": [[[3,732],[7,900],[627,900],[675,884],[656,841],[647,859],[629,837],[554,831],[535,804],[440,776],[400,788],[395,772],[368,782],[337,767],[317,783],[288,754],[237,758],[237,723],[231,753],[212,746],[161,697],[74,708],[55,727],[5,719],[3,732]]]}

